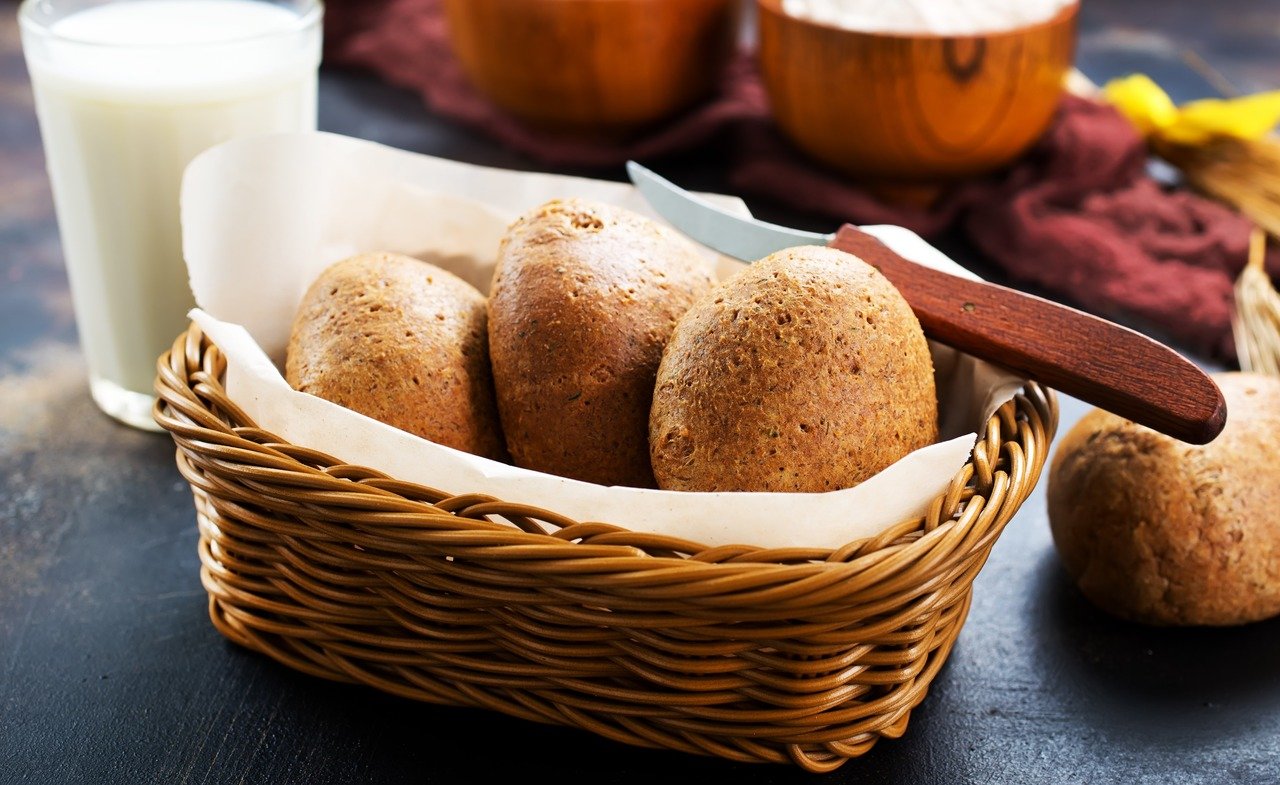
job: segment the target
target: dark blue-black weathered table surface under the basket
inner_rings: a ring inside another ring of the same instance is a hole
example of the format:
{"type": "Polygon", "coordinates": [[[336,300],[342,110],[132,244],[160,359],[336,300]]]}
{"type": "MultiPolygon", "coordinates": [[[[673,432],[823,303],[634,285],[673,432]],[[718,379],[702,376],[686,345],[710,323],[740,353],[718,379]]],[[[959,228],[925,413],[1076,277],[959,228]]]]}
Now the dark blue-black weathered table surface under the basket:
{"type": "MultiPolygon", "coordinates": [[[[13,12],[0,3],[0,781],[814,781],[330,684],[220,638],[172,441],[88,397],[13,12]]],[[[1211,88],[1187,67],[1194,53],[1239,90],[1280,86],[1276,0],[1085,0],[1082,27],[1096,79],[1138,68],[1198,97],[1211,88]]],[[[536,168],[361,74],[324,72],[320,118],[536,168]]],[[[663,161],[701,187],[722,183],[717,164],[663,161]]],[[[1062,403],[1065,429],[1084,407],[1062,403]]],[[[1041,489],[978,578],[906,735],[827,779],[1280,782],[1280,620],[1162,630],[1102,615],[1056,561],[1041,489]]]]}

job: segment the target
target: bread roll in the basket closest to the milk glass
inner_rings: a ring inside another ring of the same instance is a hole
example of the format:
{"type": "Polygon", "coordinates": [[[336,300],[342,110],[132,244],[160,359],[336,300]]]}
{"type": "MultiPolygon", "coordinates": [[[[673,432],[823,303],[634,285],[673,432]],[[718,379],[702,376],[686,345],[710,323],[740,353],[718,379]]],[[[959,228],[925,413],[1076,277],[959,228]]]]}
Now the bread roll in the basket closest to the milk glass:
{"type": "Polygon", "coordinates": [[[326,269],[293,321],[294,388],[447,447],[503,460],[486,346],[471,284],[398,254],[326,269]]]}

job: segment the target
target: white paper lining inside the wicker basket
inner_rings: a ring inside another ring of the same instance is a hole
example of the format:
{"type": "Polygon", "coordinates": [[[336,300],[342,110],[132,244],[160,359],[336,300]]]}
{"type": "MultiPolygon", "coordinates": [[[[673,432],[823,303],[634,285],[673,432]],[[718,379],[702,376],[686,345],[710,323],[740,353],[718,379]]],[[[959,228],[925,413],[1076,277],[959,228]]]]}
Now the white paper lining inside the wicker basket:
{"type": "MultiPolygon", "coordinates": [[[[307,286],[361,251],[399,251],[488,291],[498,241],[520,213],[579,196],[653,215],[628,184],[489,169],[324,133],[242,138],[187,169],[184,252],[192,318],[227,356],[227,392],[280,438],[449,493],[486,493],[580,521],[709,546],[836,548],[922,515],[1024,380],[933,344],[945,441],[829,493],[686,493],[595,485],[434,444],[288,387],[289,328],[307,286]]],[[[710,196],[748,215],[741,200],[710,196]]],[[[655,218],[655,216],[654,216],[655,218]]],[[[969,275],[916,234],[864,227],[902,256],[969,275]]],[[[723,275],[737,263],[717,259],[723,275]]]]}

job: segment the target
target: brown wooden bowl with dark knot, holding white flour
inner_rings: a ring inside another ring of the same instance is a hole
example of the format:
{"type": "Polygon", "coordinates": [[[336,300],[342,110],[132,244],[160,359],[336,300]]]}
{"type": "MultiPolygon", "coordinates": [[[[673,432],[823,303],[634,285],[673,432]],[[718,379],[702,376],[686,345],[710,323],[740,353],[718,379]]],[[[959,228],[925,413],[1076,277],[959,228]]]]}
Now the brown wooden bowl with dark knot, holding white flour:
{"type": "Polygon", "coordinates": [[[1048,127],[1075,54],[1073,4],[978,36],[858,32],[758,0],[760,70],[782,132],[872,184],[937,186],[1018,158],[1048,127]]]}

